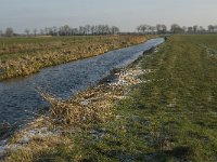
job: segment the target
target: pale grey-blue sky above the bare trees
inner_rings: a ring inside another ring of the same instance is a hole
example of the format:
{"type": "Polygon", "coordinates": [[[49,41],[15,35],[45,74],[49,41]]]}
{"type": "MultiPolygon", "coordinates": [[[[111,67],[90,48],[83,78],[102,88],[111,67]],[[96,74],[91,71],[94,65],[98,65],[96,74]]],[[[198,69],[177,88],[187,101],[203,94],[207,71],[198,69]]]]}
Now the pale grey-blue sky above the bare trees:
{"type": "Polygon", "coordinates": [[[135,31],[140,24],[217,25],[217,0],[0,0],[0,30],[108,24],[135,31]]]}

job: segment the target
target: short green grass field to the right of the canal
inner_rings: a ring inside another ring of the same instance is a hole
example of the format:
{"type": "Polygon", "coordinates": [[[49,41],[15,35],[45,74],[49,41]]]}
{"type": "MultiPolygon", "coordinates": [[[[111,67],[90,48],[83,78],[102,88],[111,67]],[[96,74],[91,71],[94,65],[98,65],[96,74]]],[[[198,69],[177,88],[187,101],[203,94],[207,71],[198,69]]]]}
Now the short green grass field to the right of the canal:
{"type": "Polygon", "coordinates": [[[127,131],[108,139],[120,140],[123,154],[135,161],[217,161],[217,55],[209,50],[217,50],[217,36],[173,36],[144,57],[142,67],[156,72],[142,76],[150,82],[117,106],[127,131]]]}

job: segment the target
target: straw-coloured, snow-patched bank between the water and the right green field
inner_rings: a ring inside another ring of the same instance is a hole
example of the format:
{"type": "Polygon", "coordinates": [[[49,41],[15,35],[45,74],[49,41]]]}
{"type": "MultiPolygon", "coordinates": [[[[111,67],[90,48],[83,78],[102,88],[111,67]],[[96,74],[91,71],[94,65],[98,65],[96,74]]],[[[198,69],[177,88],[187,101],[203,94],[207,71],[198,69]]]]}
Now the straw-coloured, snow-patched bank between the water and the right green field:
{"type": "MultiPolygon", "coordinates": [[[[153,49],[144,54],[151,51],[153,52],[153,49]]],[[[52,147],[59,145],[73,148],[75,144],[68,135],[77,136],[87,132],[95,138],[103,136],[103,132],[92,126],[122,118],[115,113],[114,103],[125,98],[129,87],[143,82],[139,78],[141,75],[152,72],[152,69],[141,69],[139,60],[140,58],[125,68],[111,71],[98,85],[78,93],[68,100],[58,100],[51,95],[41,94],[51,105],[49,113],[28,123],[8,143],[5,140],[2,156],[8,151],[18,156],[21,160],[24,160],[22,157],[27,157],[25,160],[31,161],[35,154],[40,154],[47,149],[52,150],[52,147]]]]}

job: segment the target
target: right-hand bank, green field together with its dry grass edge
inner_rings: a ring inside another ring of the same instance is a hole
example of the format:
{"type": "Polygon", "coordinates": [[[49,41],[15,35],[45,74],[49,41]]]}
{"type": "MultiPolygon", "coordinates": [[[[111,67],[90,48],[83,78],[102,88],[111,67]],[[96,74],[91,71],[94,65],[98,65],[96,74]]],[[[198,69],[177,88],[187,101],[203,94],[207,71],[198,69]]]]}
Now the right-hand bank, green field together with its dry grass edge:
{"type": "Polygon", "coordinates": [[[7,160],[217,161],[216,51],[217,36],[171,36],[119,73],[131,84],[99,85],[62,106],[54,102],[53,108],[68,110],[63,117],[51,111],[55,129],[64,130],[62,143],[37,138],[7,160]],[[82,113],[73,113],[76,105],[82,113]],[[47,147],[26,149],[41,144],[47,147]]]}

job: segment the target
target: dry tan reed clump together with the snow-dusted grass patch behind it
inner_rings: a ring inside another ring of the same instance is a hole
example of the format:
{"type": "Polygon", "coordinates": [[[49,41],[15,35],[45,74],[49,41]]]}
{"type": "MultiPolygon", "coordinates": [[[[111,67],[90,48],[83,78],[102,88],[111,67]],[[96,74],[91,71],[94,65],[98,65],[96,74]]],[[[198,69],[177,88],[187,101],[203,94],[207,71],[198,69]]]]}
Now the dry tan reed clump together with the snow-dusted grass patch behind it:
{"type": "Polygon", "coordinates": [[[82,127],[90,122],[104,122],[112,116],[114,100],[123,98],[126,86],[138,84],[137,76],[145,70],[128,69],[115,73],[117,81],[102,83],[77,94],[69,100],[59,100],[49,94],[41,95],[50,103],[50,120],[54,125],[82,127]]]}

